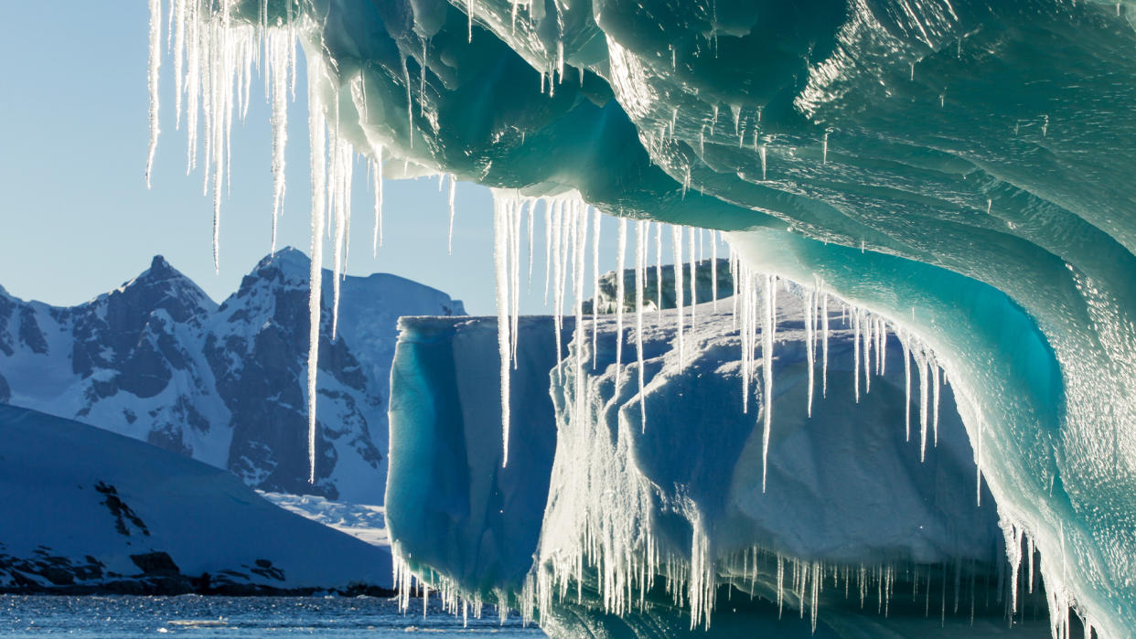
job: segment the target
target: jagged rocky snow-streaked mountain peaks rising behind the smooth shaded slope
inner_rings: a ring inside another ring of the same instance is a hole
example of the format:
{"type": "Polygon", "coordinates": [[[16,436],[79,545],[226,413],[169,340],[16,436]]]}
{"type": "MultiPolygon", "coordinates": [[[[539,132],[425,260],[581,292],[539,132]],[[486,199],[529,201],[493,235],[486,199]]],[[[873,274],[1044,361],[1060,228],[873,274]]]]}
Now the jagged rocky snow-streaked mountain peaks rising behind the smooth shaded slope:
{"type": "Polygon", "coordinates": [[[0,402],[190,455],[254,488],[381,504],[395,321],[465,311],[396,276],[346,277],[333,339],[333,276],[324,271],[312,486],[309,269],[303,253],[284,249],[219,306],[161,257],[76,306],[25,302],[0,288],[0,402]]]}

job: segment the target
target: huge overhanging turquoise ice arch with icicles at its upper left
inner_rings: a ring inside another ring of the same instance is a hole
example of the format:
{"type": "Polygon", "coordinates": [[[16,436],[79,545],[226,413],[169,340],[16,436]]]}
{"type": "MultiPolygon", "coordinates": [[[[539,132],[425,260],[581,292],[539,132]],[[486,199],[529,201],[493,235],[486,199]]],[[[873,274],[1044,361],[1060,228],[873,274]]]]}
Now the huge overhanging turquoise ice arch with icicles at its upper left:
{"type": "MultiPolygon", "coordinates": [[[[885,318],[949,377],[1001,528],[1041,553],[1053,634],[1072,608],[1099,636],[1128,637],[1134,10],[176,0],[175,108],[194,141],[203,113],[206,152],[189,161],[206,165],[219,216],[253,62],[283,143],[299,40],[314,249],[325,217],[345,233],[359,152],[386,177],[576,192],[634,220],[728,232],[747,268],[885,318]]],[[[161,3],[151,11],[157,135],[161,3]]]]}

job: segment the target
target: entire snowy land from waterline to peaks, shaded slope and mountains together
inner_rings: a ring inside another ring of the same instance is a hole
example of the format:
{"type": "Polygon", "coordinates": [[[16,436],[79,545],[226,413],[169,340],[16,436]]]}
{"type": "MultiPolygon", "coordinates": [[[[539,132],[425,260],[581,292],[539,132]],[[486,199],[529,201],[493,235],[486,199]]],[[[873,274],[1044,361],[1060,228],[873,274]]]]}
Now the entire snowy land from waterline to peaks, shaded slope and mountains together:
{"type": "Polygon", "coordinates": [[[393,592],[396,319],[465,310],[392,275],[341,281],[310,485],[309,269],[284,249],[219,305],[160,255],[77,306],[0,288],[0,591],[393,592]]]}

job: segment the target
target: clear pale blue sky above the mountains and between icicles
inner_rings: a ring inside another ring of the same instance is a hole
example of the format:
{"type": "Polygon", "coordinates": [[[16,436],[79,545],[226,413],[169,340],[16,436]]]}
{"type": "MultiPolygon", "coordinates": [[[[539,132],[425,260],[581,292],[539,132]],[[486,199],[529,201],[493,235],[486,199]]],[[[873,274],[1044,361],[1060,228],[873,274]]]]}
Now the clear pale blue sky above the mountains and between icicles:
{"type": "MultiPolygon", "coordinates": [[[[80,303],[133,278],[160,253],[219,302],[268,253],[272,138],[262,83],[253,84],[248,121],[234,124],[219,274],[212,264],[211,197],[202,195],[200,171],[185,175],[185,134],[174,128],[168,58],[162,61],[162,134],[152,188],[145,188],[148,23],[140,1],[6,7],[0,22],[0,286],[10,294],[80,303]]],[[[290,104],[279,245],[307,252],[307,103],[300,81],[296,102],[290,104]]],[[[371,195],[361,168],[357,173],[349,272],[393,272],[465,300],[470,313],[495,312],[488,191],[458,185],[450,255],[446,194],[438,193],[437,180],[387,180],[386,245],[373,259],[371,195]]],[[[615,266],[613,228],[609,220],[603,229],[604,269],[615,266]]],[[[665,246],[663,254],[669,250],[665,246]]],[[[526,296],[523,310],[544,312],[541,297],[526,296]]]]}

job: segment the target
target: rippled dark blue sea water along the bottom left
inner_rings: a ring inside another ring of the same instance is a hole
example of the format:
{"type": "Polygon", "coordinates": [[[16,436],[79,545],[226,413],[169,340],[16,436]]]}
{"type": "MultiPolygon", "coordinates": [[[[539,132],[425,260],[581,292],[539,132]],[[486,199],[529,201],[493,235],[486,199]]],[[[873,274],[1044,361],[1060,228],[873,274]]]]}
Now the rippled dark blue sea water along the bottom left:
{"type": "Polygon", "coordinates": [[[395,599],[375,597],[135,597],[0,596],[5,637],[544,637],[520,617],[504,623],[492,607],[483,619],[442,612],[432,602],[423,616],[420,600],[399,612],[395,599]]]}

